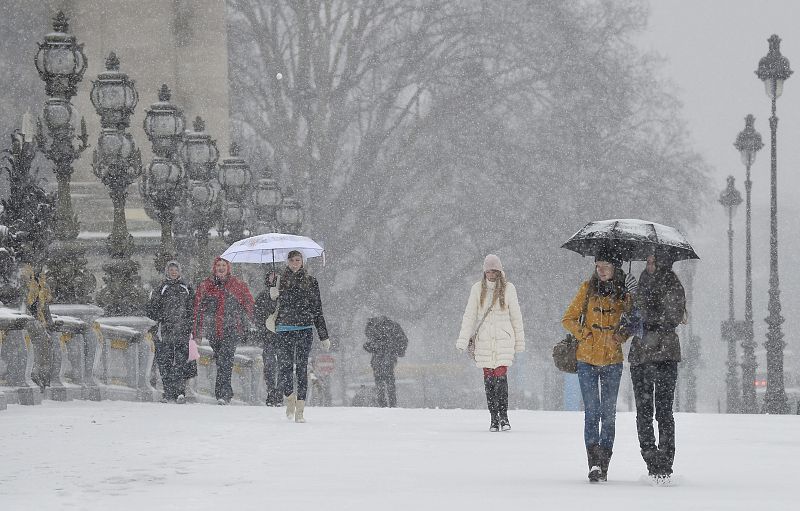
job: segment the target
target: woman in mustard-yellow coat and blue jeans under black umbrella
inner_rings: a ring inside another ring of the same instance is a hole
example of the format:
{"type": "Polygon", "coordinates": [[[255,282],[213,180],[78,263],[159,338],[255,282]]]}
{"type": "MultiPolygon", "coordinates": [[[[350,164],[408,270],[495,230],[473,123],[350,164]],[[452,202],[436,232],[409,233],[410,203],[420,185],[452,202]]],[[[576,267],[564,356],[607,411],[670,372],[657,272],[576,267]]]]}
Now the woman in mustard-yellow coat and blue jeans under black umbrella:
{"type": "Polygon", "coordinates": [[[613,249],[598,250],[592,277],[581,285],[561,320],[578,339],[578,382],[585,410],[583,436],[592,482],[606,480],[614,447],[622,344],[627,339],[619,325],[622,313],[631,307],[621,265],[613,249]]]}

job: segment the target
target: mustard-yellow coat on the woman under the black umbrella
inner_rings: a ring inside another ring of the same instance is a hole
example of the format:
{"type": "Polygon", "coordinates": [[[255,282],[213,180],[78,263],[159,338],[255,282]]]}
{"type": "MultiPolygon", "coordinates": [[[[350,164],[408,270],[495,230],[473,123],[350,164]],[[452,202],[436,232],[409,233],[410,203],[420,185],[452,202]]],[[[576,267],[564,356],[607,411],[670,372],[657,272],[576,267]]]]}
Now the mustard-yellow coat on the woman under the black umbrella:
{"type": "Polygon", "coordinates": [[[561,324],[578,339],[578,362],[596,366],[619,364],[624,358],[622,344],[625,339],[616,334],[620,316],[630,309],[630,295],[625,295],[622,300],[613,296],[591,296],[586,306],[586,321],[581,326],[581,312],[588,292],[587,281],[567,307],[561,324]]]}

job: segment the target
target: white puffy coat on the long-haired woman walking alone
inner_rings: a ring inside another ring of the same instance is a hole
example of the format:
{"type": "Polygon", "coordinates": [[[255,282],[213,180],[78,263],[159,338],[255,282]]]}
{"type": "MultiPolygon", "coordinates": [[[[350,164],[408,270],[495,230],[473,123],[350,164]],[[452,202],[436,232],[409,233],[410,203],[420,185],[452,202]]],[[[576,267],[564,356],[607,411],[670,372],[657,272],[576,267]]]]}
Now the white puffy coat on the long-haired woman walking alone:
{"type": "MultiPolygon", "coordinates": [[[[486,298],[483,306],[481,300],[481,282],[472,286],[467,301],[467,309],[461,320],[461,332],[458,334],[456,348],[467,349],[470,336],[475,332],[486,310],[491,305],[494,283],[486,282],[486,298]]],[[[475,341],[475,365],[477,367],[495,369],[510,366],[514,362],[514,353],[525,351],[525,330],[522,326],[522,312],[517,300],[514,284],[506,282],[506,306],[500,308],[498,298],[486,320],[478,330],[475,341]]]]}

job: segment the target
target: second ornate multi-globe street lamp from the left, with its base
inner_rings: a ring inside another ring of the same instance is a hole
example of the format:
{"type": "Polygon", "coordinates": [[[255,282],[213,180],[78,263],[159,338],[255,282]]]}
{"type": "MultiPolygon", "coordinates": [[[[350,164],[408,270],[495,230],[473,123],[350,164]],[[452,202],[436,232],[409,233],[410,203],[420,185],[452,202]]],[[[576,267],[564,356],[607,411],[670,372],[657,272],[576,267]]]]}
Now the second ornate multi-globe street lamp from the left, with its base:
{"type": "Polygon", "coordinates": [[[139,286],[139,263],[131,260],[133,237],[125,220],[128,186],[142,175],[142,155],[131,134],[125,132],[139,97],[133,81],[119,71],[119,59],[113,52],[106,59],[106,72],[92,82],[90,97],[103,128],[92,170],[109,188],[114,205],[108,237],[111,262],[103,265],[105,287],[98,292],[97,303],[112,315],[129,316],[141,313],[146,300],[139,286]]]}

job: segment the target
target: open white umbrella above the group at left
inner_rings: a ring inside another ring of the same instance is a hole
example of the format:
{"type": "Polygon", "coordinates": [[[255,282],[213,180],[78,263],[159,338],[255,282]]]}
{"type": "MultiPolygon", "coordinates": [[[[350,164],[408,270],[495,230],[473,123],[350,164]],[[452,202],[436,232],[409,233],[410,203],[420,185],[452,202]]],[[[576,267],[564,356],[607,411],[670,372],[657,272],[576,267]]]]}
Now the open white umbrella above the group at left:
{"type": "Polygon", "coordinates": [[[231,263],[275,263],[286,261],[289,252],[297,250],[303,259],[322,256],[325,264],[325,249],[307,236],[271,232],[239,240],[222,253],[222,258],[231,263]]]}

